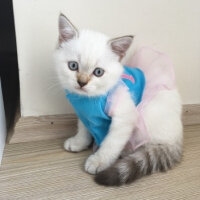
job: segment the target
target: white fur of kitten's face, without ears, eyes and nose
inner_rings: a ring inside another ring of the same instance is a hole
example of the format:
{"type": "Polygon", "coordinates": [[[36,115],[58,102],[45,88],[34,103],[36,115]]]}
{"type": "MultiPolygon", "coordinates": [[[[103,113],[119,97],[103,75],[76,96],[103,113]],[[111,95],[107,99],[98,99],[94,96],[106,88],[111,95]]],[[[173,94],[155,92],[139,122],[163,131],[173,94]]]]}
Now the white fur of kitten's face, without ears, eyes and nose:
{"type": "Polygon", "coordinates": [[[108,45],[109,38],[101,33],[89,30],[80,31],[79,37],[61,44],[55,51],[55,64],[58,78],[64,89],[77,94],[96,96],[105,94],[115,85],[123,69],[118,62],[119,58],[108,45]],[[71,71],[68,61],[77,61],[80,72],[88,76],[95,68],[105,70],[102,77],[91,76],[91,80],[84,91],[78,90],[76,72],[71,71]]]}

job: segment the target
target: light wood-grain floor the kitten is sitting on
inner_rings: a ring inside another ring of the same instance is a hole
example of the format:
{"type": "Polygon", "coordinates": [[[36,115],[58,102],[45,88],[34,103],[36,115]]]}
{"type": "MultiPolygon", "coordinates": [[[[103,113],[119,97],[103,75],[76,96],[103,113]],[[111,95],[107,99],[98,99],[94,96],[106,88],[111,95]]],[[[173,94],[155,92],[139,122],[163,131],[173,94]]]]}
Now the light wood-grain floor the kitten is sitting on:
{"type": "Polygon", "coordinates": [[[0,169],[0,200],[200,199],[200,125],[185,127],[179,166],[123,187],[96,185],[83,171],[90,151],[68,153],[62,146],[61,139],[7,145],[0,169]]]}

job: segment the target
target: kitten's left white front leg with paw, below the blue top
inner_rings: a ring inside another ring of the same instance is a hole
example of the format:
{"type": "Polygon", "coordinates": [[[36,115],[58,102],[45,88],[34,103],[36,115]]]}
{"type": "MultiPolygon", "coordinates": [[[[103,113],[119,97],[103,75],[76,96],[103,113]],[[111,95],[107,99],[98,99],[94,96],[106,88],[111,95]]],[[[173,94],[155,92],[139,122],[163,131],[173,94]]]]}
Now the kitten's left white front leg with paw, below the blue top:
{"type": "Polygon", "coordinates": [[[84,124],[78,120],[78,133],[65,140],[64,148],[67,151],[79,152],[88,148],[92,142],[90,133],[85,128],[84,124]]]}

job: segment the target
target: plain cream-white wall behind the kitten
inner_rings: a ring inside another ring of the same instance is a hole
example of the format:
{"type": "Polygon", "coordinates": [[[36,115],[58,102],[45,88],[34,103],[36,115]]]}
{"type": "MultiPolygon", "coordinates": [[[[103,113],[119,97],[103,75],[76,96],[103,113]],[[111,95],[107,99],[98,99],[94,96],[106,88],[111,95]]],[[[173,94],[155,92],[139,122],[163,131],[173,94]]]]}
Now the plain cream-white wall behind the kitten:
{"type": "Polygon", "coordinates": [[[55,85],[52,52],[60,12],[75,26],[110,36],[135,34],[174,61],[184,104],[200,103],[199,0],[13,0],[23,116],[72,112],[55,85]]]}

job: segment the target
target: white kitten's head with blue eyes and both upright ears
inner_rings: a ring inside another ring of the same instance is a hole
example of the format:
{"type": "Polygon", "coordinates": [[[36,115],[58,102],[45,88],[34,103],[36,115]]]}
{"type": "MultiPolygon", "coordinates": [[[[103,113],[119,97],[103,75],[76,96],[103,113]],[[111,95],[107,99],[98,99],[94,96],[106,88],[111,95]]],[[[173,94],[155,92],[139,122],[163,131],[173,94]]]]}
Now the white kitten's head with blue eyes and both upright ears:
{"type": "Polygon", "coordinates": [[[59,42],[55,64],[64,89],[76,94],[98,96],[119,80],[120,63],[133,36],[110,39],[90,30],[78,31],[63,15],[59,16],[59,42]]]}

